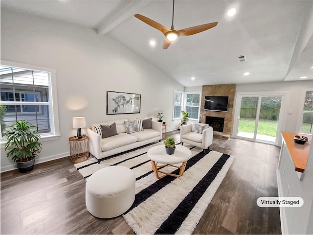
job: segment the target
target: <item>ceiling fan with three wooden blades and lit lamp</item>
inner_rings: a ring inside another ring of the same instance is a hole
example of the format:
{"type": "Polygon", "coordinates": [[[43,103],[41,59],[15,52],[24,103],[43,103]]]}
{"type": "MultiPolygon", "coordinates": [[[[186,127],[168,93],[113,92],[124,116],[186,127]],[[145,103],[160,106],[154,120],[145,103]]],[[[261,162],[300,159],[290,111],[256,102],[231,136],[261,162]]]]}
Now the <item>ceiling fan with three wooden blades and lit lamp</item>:
{"type": "Polygon", "coordinates": [[[171,45],[171,43],[175,41],[179,36],[189,36],[189,35],[193,35],[196,33],[200,33],[207,29],[213,28],[217,25],[217,22],[214,22],[214,23],[209,23],[209,24],[201,24],[201,25],[184,28],[180,30],[175,30],[174,29],[174,0],[173,0],[173,15],[172,15],[171,29],[168,29],[162,24],[159,24],[143,15],[135,14],[134,16],[138,18],[140,21],[143,21],[144,23],[149,24],[150,26],[156,28],[157,30],[161,31],[164,34],[165,40],[163,42],[163,49],[167,49],[171,45]]]}

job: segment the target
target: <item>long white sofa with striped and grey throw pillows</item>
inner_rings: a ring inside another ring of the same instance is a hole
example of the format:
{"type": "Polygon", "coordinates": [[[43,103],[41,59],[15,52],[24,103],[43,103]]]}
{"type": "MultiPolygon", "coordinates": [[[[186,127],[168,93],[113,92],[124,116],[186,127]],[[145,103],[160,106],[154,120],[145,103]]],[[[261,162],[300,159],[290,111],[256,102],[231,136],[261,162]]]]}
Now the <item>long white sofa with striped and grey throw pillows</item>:
{"type": "Polygon", "coordinates": [[[142,121],[140,121],[140,119],[136,119],[139,123],[139,131],[134,131],[134,129],[131,129],[132,127],[129,127],[132,125],[130,123],[134,123],[135,120],[131,122],[128,119],[121,119],[102,123],[92,123],[91,127],[87,129],[87,135],[89,137],[89,153],[99,161],[100,159],[134,149],[151,142],[161,141],[162,123],[153,120],[150,120],[151,122],[149,122],[149,119],[152,118],[143,119],[143,122],[145,123],[144,125],[142,125],[142,121]],[[148,127],[150,124],[151,129],[143,129],[147,128],[147,123],[148,127]],[[128,124],[128,126],[126,126],[126,124],[128,124]],[[100,125],[102,125],[102,127],[100,125]],[[114,129],[115,126],[117,133],[112,136],[105,137],[106,132],[103,128],[109,130],[108,132],[111,132],[111,129],[114,129]],[[101,130],[104,131],[102,133],[105,138],[102,138],[101,130]],[[128,132],[132,133],[128,134],[128,132]]]}

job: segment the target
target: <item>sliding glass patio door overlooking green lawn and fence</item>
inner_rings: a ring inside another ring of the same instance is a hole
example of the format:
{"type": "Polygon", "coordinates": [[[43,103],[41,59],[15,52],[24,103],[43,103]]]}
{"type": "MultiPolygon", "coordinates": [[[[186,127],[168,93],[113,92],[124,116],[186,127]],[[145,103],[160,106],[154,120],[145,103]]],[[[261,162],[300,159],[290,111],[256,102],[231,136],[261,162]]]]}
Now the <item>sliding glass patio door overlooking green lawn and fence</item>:
{"type": "Polygon", "coordinates": [[[278,143],[280,113],[284,95],[244,95],[237,97],[234,131],[239,139],[278,143]]]}

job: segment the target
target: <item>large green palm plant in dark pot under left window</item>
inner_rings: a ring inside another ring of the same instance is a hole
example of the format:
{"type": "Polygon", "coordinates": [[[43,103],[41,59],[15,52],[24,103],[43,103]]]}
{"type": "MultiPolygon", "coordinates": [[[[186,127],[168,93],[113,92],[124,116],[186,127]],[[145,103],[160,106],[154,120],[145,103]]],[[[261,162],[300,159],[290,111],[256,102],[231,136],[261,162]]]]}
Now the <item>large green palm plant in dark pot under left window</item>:
{"type": "Polygon", "coordinates": [[[7,157],[12,156],[21,173],[32,171],[35,157],[41,151],[37,127],[26,120],[15,121],[3,135],[6,138],[7,157]]]}

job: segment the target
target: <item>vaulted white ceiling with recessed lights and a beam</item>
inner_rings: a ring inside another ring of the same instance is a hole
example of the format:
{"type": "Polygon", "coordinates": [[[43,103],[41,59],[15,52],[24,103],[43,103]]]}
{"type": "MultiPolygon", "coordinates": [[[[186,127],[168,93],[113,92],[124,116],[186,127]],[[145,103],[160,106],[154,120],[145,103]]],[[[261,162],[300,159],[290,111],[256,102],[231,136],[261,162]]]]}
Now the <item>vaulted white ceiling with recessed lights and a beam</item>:
{"type": "Polygon", "coordinates": [[[312,0],[176,0],[176,30],[218,25],[181,36],[164,50],[164,35],[134,14],[170,28],[172,6],[172,0],[1,0],[1,11],[10,8],[108,35],[186,87],[313,79],[312,0]],[[231,7],[237,12],[228,17],[231,7]],[[239,62],[241,55],[246,62],[239,62]]]}

